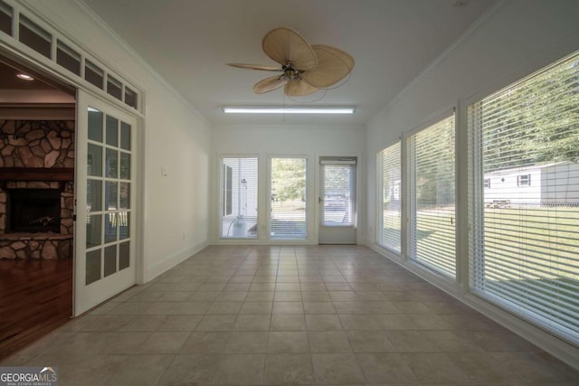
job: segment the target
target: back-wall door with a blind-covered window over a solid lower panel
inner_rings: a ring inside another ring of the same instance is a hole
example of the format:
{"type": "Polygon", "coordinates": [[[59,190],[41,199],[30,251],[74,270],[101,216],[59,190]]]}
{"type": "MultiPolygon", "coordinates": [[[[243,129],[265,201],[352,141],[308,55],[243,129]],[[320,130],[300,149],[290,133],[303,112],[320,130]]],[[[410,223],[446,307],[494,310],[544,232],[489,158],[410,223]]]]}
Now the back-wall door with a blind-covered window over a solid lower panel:
{"type": "Polygon", "coordinates": [[[319,161],[319,244],[356,244],[356,157],[319,161]]]}

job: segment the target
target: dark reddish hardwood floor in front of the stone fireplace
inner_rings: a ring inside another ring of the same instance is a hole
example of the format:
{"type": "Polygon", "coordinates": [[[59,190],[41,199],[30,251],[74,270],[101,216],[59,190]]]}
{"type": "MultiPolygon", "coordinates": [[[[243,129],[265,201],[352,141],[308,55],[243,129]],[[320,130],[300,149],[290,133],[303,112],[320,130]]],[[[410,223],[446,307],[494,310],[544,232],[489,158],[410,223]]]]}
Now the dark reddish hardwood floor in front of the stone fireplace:
{"type": "Polygon", "coordinates": [[[72,315],[72,259],[0,259],[0,359],[72,315]]]}

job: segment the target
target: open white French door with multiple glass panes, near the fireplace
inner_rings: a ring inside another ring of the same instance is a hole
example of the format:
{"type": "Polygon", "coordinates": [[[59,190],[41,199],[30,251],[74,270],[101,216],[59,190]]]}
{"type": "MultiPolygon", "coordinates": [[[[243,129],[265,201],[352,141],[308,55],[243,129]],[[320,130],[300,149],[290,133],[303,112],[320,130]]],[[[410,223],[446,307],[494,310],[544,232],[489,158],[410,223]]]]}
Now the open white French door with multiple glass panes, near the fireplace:
{"type": "Polygon", "coordinates": [[[74,315],[135,284],[137,121],[78,97],[74,315]]]}

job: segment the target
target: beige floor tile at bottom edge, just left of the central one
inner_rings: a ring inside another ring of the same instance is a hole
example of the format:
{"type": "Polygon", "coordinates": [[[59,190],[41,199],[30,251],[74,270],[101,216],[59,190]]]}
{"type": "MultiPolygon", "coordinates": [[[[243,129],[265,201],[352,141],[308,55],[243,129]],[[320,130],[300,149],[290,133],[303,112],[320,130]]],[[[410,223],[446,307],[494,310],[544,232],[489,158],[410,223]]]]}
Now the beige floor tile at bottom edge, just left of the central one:
{"type": "Polygon", "coordinates": [[[263,380],[265,354],[223,355],[211,383],[259,385],[263,380]]]}

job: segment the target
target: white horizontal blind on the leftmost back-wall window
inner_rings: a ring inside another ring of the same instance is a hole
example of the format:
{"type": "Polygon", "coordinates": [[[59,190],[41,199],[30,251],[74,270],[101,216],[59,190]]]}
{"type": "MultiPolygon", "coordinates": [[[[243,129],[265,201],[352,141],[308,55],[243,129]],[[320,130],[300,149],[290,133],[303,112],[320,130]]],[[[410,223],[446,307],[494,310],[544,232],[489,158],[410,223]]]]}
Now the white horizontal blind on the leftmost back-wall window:
{"type": "Polygon", "coordinates": [[[257,238],[258,159],[222,158],[221,237],[257,238]]]}

